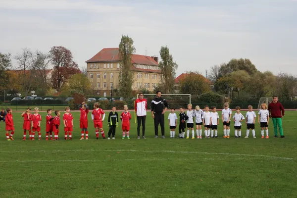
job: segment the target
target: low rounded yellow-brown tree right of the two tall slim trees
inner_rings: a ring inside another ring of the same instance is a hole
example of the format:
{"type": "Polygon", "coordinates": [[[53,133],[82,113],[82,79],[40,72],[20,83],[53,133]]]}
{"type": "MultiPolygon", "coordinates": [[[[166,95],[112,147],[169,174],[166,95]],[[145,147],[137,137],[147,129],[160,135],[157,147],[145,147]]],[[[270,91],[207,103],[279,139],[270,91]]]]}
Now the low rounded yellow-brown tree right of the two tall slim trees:
{"type": "Polygon", "coordinates": [[[198,71],[189,71],[186,77],[180,80],[180,93],[201,95],[210,91],[210,82],[198,71]]]}

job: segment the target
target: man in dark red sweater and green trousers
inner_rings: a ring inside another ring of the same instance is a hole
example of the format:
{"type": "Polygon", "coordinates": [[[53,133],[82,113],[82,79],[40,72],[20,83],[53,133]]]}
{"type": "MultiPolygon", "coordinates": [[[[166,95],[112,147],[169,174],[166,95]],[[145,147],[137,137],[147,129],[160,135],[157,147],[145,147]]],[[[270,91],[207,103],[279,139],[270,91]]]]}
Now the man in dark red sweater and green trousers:
{"type": "Polygon", "coordinates": [[[274,137],[278,137],[277,127],[279,127],[281,138],[285,138],[282,125],[282,117],[285,115],[285,109],[283,105],[278,101],[277,96],[273,97],[273,101],[268,105],[268,110],[273,122],[274,137]]]}

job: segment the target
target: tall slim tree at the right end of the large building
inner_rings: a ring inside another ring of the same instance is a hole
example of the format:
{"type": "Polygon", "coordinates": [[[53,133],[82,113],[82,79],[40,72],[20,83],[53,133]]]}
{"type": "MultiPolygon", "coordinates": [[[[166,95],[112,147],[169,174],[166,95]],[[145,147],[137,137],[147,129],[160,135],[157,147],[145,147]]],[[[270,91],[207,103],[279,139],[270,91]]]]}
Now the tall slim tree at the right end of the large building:
{"type": "Polygon", "coordinates": [[[168,47],[162,46],[160,49],[161,61],[159,63],[162,75],[160,85],[164,94],[171,94],[174,91],[174,79],[178,64],[173,62],[173,57],[169,53],[168,47]]]}

